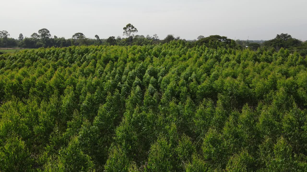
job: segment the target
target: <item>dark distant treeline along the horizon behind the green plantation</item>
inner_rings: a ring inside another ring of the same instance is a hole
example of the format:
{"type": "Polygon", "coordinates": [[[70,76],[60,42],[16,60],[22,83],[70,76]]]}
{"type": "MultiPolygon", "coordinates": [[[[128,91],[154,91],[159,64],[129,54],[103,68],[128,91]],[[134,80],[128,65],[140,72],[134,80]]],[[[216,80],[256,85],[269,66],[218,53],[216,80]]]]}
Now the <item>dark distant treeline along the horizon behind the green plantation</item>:
{"type": "Polygon", "coordinates": [[[110,36],[107,39],[100,39],[98,35],[95,35],[96,39],[87,38],[83,33],[75,33],[72,38],[65,39],[64,37],[58,38],[57,36],[51,36],[48,29],[40,29],[38,33],[33,33],[30,38],[24,37],[22,33],[19,34],[18,39],[9,38],[10,34],[7,31],[0,31],[0,47],[7,48],[40,48],[40,47],[69,47],[69,46],[82,46],[82,45],[153,45],[159,43],[168,43],[172,40],[183,40],[190,42],[191,46],[204,45],[207,44],[208,47],[222,46],[236,47],[237,49],[249,48],[251,50],[257,50],[259,47],[264,47],[265,49],[274,48],[279,50],[280,48],[287,48],[289,50],[297,50],[299,54],[305,56],[307,54],[307,41],[303,42],[299,39],[292,38],[289,34],[277,35],[271,40],[232,40],[228,39],[226,36],[212,35],[208,37],[198,36],[194,40],[181,39],[179,36],[174,37],[172,34],[167,35],[164,39],[159,39],[157,34],[153,36],[147,35],[134,35],[138,30],[132,25],[127,24],[123,28],[126,38],[121,38],[120,36],[110,36]]]}

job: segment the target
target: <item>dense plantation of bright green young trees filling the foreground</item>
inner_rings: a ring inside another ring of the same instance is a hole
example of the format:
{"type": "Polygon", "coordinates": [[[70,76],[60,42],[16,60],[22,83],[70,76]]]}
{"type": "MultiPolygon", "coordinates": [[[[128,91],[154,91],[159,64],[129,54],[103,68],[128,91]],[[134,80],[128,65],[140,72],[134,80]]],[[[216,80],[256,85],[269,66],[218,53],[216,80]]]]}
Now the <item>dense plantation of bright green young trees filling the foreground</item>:
{"type": "Polygon", "coordinates": [[[0,67],[0,171],[307,170],[297,53],[178,40],[25,50],[0,67]]]}

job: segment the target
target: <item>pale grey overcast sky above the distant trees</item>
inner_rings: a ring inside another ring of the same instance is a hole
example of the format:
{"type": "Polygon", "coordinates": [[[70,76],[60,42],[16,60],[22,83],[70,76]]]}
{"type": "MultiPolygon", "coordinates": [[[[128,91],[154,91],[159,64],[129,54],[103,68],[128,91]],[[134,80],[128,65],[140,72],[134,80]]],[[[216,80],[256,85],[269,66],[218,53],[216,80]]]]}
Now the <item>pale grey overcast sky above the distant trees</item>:
{"type": "Polygon", "coordinates": [[[268,40],[288,33],[307,40],[307,0],[9,0],[1,2],[0,30],[18,38],[41,28],[71,38],[121,36],[131,23],[138,35],[181,39],[220,35],[268,40]]]}

